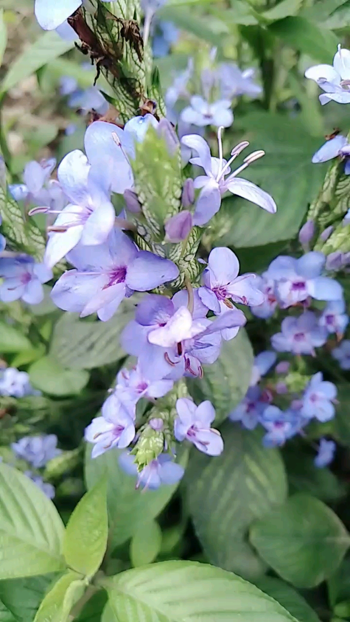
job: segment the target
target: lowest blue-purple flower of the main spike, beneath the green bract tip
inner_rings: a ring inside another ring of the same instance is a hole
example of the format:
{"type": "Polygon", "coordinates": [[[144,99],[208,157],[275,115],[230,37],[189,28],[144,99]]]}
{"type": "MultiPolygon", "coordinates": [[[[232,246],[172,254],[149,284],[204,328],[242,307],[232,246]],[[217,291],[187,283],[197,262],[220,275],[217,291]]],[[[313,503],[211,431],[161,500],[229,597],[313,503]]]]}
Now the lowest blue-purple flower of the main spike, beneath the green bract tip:
{"type": "Polygon", "coordinates": [[[141,473],[138,473],[133,455],[128,452],[121,453],[119,464],[128,475],[138,476],[136,488],[142,486],[149,490],[157,490],[161,484],[174,486],[184,475],[184,468],[173,462],[169,453],[161,453],[158,458],[151,460],[141,473]]]}

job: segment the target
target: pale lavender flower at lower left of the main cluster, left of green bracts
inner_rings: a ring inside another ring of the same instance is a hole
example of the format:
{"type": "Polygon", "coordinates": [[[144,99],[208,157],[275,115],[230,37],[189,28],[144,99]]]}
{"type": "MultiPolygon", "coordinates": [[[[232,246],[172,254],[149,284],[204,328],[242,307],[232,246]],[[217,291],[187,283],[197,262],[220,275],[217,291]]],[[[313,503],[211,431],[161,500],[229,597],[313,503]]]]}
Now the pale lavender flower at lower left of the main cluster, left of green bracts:
{"type": "Polygon", "coordinates": [[[102,417],[95,417],[85,429],[85,440],[95,443],[91,457],[97,458],[112,447],[128,447],[135,438],[134,412],[115,394],[102,406],[102,417]]]}

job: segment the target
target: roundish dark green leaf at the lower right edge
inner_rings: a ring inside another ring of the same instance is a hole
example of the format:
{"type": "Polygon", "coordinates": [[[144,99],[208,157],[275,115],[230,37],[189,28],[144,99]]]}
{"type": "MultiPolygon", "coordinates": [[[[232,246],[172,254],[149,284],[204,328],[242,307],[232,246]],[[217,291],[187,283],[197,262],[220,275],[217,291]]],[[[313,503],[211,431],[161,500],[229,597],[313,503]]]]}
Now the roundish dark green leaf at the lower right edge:
{"type": "Polygon", "coordinates": [[[338,516],[322,501],[303,493],[255,522],[250,541],[283,579],[304,588],[330,577],[350,545],[338,516]]]}

